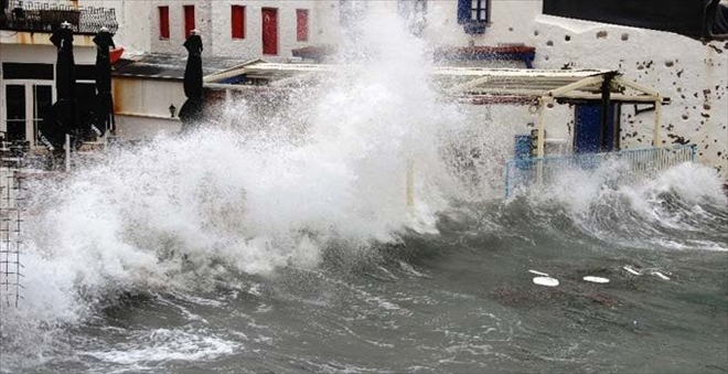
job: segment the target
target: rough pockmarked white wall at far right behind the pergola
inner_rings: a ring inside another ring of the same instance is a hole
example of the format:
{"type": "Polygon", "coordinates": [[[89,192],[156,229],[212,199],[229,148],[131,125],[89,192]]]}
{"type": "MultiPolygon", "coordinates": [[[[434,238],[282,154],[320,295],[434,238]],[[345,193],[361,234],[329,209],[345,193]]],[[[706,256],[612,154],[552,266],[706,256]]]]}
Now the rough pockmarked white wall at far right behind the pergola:
{"type": "MultiPolygon", "coordinates": [[[[548,15],[531,26],[537,67],[614,68],[670,97],[660,143],[697,145],[698,160],[728,178],[728,43],[548,15]]],[[[654,113],[622,106],[623,147],[649,146],[653,122],[654,113]]]]}

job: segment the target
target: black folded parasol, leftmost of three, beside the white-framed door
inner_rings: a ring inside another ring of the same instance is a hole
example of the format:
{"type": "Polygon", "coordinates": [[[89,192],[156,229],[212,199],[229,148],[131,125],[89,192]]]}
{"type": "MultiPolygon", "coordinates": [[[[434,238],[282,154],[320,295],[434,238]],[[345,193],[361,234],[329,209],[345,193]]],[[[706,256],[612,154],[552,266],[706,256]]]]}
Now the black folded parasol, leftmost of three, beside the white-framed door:
{"type": "Polygon", "coordinates": [[[47,110],[39,129],[39,138],[49,149],[61,149],[66,133],[79,130],[75,97],[75,62],[73,57],[73,31],[64,22],[53,35],[51,42],[58,49],[55,65],[55,104],[47,110]]]}

